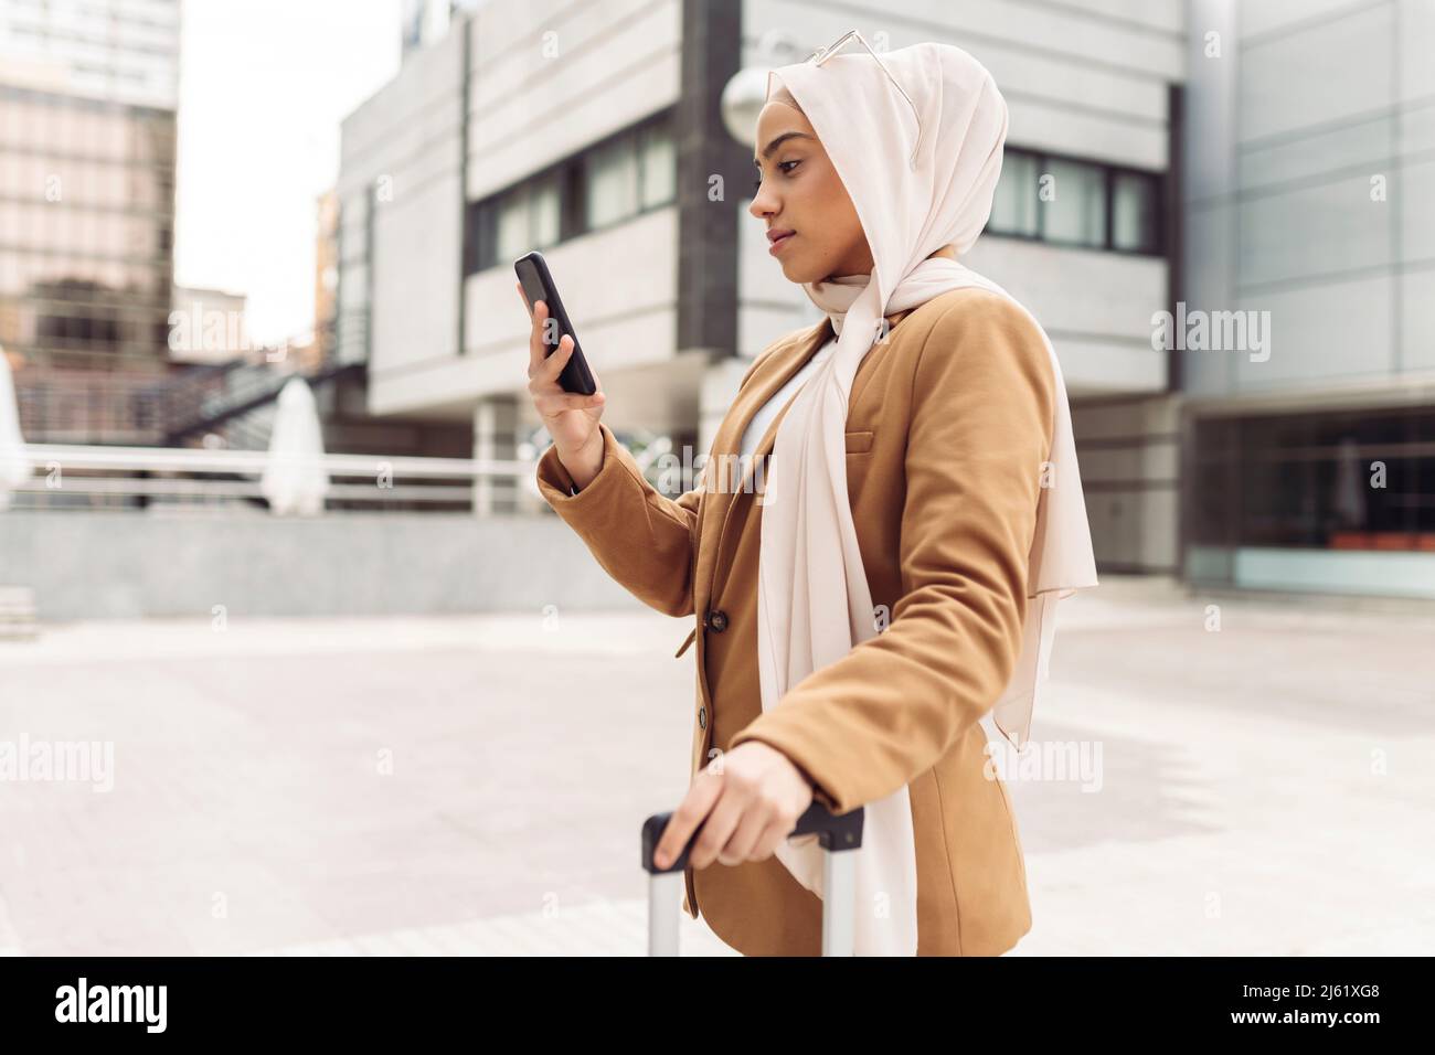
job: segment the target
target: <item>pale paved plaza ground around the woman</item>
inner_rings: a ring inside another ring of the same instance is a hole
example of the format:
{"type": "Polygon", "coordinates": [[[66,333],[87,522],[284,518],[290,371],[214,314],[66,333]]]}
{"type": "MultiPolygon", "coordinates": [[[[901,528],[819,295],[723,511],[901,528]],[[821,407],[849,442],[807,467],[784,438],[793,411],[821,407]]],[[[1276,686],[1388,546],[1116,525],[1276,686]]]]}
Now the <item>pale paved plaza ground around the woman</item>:
{"type": "MultiPolygon", "coordinates": [[[[1060,614],[1033,735],[1099,769],[1009,777],[1035,917],[1015,955],[1435,952],[1435,610],[1104,577],[1060,614]]],[[[639,824],[687,782],[686,632],[524,613],[0,643],[0,751],[113,745],[108,792],[0,779],[0,950],[641,955],[639,824]]],[[[730,955],[686,917],[683,942],[730,955]]]]}

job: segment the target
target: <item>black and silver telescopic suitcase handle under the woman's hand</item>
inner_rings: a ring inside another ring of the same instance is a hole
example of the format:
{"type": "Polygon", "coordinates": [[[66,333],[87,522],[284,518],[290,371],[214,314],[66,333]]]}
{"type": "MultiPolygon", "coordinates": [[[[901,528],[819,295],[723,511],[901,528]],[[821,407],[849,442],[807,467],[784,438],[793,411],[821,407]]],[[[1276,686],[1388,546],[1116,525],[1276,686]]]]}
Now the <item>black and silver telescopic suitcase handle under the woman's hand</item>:
{"type": "MultiPolygon", "coordinates": [[[[653,853],[657,850],[667,822],[673,814],[653,814],[643,821],[643,870],[649,874],[649,903],[647,903],[647,952],[649,956],[677,955],[677,914],[676,890],[669,891],[670,883],[676,884],[676,874],[687,868],[687,857],[702,834],[702,825],[687,840],[687,845],[666,868],[659,868],[653,863],[653,853]],[[664,901],[670,901],[666,909],[664,901]]],[[[796,835],[817,835],[822,847],[822,955],[851,956],[854,937],[854,907],[857,890],[855,861],[848,850],[862,847],[862,807],[850,810],[845,814],[834,814],[821,802],[812,802],[798,818],[796,825],[788,833],[788,838],[796,835]]]]}

